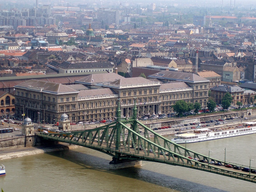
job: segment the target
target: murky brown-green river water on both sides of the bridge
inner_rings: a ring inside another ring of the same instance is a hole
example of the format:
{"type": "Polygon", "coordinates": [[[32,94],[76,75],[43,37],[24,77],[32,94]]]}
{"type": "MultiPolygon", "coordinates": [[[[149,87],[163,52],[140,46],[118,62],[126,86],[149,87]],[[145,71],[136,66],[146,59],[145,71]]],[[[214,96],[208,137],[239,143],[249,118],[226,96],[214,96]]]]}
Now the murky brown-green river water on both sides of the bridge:
{"type": "MultiPolygon", "coordinates": [[[[186,147],[210,157],[256,167],[256,134],[203,141],[186,147]]],[[[251,192],[255,183],[160,163],[109,170],[111,157],[88,148],[2,160],[4,192],[251,192]]]]}

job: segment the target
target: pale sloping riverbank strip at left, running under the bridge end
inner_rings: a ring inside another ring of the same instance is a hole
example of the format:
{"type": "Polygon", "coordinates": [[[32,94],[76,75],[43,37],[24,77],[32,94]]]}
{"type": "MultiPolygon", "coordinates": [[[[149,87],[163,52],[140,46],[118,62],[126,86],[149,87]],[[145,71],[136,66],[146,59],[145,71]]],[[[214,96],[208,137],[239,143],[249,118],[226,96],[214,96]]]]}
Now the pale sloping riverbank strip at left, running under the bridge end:
{"type": "Polygon", "coordinates": [[[61,143],[54,147],[40,146],[40,147],[20,147],[20,148],[16,148],[16,150],[2,149],[0,150],[0,160],[11,159],[16,157],[24,157],[28,155],[36,155],[41,153],[49,153],[49,152],[60,151],[60,150],[69,150],[69,149],[75,149],[79,147],[82,147],[82,146],[61,143]]]}

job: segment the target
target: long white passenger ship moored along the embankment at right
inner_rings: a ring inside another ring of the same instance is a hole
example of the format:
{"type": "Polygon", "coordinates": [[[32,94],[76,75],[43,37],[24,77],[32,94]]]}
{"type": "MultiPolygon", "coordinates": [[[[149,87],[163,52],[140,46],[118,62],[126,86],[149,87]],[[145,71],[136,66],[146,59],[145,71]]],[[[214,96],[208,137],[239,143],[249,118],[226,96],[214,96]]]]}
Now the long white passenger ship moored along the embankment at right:
{"type": "Polygon", "coordinates": [[[193,132],[177,134],[171,139],[176,144],[194,143],[256,133],[256,122],[247,122],[236,127],[200,128],[193,132]]]}

